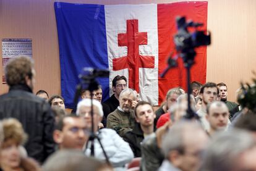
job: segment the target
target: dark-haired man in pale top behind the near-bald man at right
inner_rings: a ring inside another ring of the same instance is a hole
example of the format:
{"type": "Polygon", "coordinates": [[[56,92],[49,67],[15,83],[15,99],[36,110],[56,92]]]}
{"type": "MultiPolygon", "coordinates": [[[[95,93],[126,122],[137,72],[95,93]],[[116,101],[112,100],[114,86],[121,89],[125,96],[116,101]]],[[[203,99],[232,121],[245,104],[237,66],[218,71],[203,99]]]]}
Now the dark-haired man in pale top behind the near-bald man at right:
{"type": "Polygon", "coordinates": [[[206,119],[207,115],[207,104],[213,101],[216,101],[219,89],[215,83],[205,83],[200,89],[200,96],[202,99],[202,107],[197,111],[198,116],[200,117],[200,122],[205,130],[209,131],[210,125],[206,119]]]}

